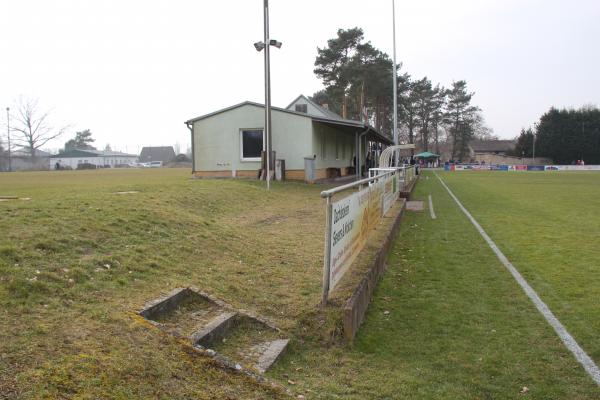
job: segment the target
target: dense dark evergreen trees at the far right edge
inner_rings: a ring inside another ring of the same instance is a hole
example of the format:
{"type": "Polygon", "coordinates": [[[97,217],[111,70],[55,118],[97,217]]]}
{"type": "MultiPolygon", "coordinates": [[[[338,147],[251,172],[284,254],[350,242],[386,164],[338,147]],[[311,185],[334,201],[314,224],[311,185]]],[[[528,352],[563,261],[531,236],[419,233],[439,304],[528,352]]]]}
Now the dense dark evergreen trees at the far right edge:
{"type": "Polygon", "coordinates": [[[514,155],[547,157],[557,164],[600,164],[600,109],[551,108],[533,127],[523,129],[517,139],[514,155]],[[535,140],[535,146],[534,146],[535,140]]]}

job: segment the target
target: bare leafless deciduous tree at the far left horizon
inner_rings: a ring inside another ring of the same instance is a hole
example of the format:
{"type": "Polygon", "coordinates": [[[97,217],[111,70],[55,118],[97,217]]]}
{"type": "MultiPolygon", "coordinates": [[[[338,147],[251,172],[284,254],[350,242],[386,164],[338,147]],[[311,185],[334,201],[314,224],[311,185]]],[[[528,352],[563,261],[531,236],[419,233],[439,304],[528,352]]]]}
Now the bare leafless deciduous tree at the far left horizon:
{"type": "Polygon", "coordinates": [[[26,149],[30,157],[35,157],[36,150],[62,135],[67,129],[52,127],[49,115],[49,112],[40,109],[37,99],[19,99],[11,120],[14,121],[11,131],[17,132],[15,143],[26,149]]]}

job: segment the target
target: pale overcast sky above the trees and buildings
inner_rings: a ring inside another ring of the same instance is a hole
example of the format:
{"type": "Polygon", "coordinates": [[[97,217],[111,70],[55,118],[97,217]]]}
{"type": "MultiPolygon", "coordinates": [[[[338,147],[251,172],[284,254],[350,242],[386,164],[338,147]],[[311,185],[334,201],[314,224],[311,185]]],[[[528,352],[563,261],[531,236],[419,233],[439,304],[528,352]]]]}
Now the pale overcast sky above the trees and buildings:
{"type": "MultiPolygon", "coordinates": [[[[392,54],[391,0],[271,0],[273,105],[321,88],[317,46],[359,26],[392,54]]],[[[396,0],[397,54],[415,78],[465,79],[487,124],[516,136],[550,106],[600,103],[599,0],[396,0]]],[[[183,122],[263,102],[262,0],[0,0],[0,105],[38,98],[56,126],[137,152],[183,122]]],[[[3,112],[0,121],[4,122],[3,112]]]]}

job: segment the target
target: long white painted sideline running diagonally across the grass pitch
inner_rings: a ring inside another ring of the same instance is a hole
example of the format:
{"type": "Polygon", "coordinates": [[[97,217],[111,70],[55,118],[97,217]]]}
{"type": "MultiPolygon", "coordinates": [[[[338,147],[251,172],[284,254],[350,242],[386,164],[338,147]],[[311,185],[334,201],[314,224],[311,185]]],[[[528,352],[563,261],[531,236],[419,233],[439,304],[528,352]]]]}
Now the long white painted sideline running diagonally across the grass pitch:
{"type": "Polygon", "coordinates": [[[435,171],[433,173],[439,179],[442,186],[446,188],[448,194],[450,194],[450,197],[454,199],[456,204],[458,204],[458,207],[462,210],[463,213],[465,213],[467,218],[469,218],[469,220],[475,226],[477,231],[479,231],[479,234],[485,239],[487,244],[490,246],[492,251],[500,260],[500,262],[506,267],[506,269],[508,269],[511,275],[515,278],[515,280],[521,286],[527,297],[529,297],[531,301],[533,301],[533,304],[538,309],[538,311],[544,316],[544,318],[546,318],[546,321],[548,321],[550,326],[554,328],[554,331],[558,334],[558,336],[563,341],[567,349],[569,349],[571,353],[573,353],[577,361],[579,361],[579,363],[583,366],[585,371],[592,377],[594,382],[596,382],[597,385],[600,385],[600,369],[598,368],[596,363],[594,363],[594,360],[592,360],[590,356],[588,356],[587,353],[581,348],[581,346],[579,346],[579,344],[567,331],[564,325],[558,320],[558,318],[554,316],[552,311],[550,311],[550,308],[548,308],[546,303],[544,303],[540,296],[538,296],[538,294],[535,292],[535,290],[533,290],[533,288],[529,286],[525,278],[523,278],[523,276],[514,267],[514,265],[512,265],[512,263],[508,261],[508,258],[506,258],[502,251],[500,251],[498,246],[496,246],[496,243],[494,243],[494,241],[488,236],[488,234],[485,233],[481,225],[479,225],[475,218],[473,218],[471,213],[469,213],[469,211],[467,211],[467,209],[460,203],[458,198],[454,195],[454,193],[452,193],[452,191],[442,180],[442,178],[440,178],[435,171]]]}

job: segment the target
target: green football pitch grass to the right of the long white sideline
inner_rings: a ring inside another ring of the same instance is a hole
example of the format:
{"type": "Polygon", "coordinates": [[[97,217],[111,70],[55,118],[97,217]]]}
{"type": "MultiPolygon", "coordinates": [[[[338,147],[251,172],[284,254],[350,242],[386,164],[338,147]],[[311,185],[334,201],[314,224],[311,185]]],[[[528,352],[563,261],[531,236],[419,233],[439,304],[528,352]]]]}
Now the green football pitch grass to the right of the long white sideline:
{"type": "Polygon", "coordinates": [[[600,173],[441,177],[599,362],[600,173]]]}

